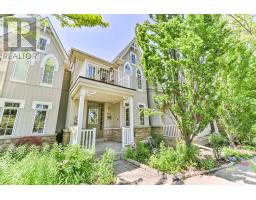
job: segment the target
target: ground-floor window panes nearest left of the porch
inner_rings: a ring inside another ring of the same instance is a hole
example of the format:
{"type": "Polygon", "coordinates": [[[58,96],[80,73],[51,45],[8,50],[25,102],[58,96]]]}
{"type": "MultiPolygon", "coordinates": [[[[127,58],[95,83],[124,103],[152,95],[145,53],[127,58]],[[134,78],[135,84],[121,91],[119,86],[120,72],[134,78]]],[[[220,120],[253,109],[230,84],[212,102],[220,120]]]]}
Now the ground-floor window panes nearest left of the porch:
{"type": "Polygon", "coordinates": [[[47,104],[36,104],[35,106],[35,119],[33,125],[33,133],[42,134],[44,133],[46,115],[49,105],[47,104]]]}

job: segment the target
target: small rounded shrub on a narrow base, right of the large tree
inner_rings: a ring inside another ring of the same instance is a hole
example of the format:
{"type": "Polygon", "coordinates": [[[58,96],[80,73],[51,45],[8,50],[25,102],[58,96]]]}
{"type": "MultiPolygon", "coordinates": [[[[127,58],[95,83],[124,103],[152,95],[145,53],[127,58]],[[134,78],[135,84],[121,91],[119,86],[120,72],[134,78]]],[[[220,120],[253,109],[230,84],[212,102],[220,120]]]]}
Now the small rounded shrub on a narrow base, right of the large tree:
{"type": "Polygon", "coordinates": [[[213,133],[209,137],[209,142],[213,148],[214,157],[218,160],[220,159],[221,150],[224,146],[228,145],[227,139],[219,134],[213,133]]]}

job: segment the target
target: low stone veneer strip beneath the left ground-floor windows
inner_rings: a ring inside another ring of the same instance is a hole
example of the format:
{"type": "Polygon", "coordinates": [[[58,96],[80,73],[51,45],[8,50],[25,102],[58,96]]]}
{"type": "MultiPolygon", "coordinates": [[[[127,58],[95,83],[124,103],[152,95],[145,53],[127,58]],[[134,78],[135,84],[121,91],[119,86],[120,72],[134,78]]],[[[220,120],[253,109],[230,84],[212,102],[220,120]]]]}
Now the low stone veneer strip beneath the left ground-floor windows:
{"type": "MultiPolygon", "coordinates": [[[[18,143],[24,143],[25,141],[32,141],[33,139],[30,139],[32,137],[37,137],[42,143],[46,143],[49,145],[52,145],[56,142],[56,135],[44,135],[44,136],[24,136],[24,137],[10,137],[10,138],[3,138],[0,139],[0,149],[8,147],[9,145],[15,145],[18,143]]],[[[37,140],[38,141],[38,140],[37,140]]]]}

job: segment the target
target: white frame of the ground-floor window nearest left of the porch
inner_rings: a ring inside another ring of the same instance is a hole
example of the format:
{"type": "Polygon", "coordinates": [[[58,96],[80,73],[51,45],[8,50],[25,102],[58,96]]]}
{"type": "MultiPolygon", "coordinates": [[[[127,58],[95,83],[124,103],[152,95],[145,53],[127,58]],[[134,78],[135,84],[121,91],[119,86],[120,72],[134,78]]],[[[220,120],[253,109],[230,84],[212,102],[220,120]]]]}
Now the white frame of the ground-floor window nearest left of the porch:
{"type": "Polygon", "coordinates": [[[46,124],[47,124],[47,121],[48,121],[49,110],[52,109],[52,103],[51,102],[44,102],[44,101],[33,101],[32,109],[34,110],[34,118],[33,118],[33,123],[32,123],[32,128],[31,128],[31,135],[44,135],[45,134],[46,124]],[[40,104],[40,105],[47,105],[48,108],[47,109],[37,109],[36,106],[38,104],[40,104]],[[42,133],[33,132],[37,111],[46,111],[45,120],[44,120],[44,129],[43,129],[42,133]]]}

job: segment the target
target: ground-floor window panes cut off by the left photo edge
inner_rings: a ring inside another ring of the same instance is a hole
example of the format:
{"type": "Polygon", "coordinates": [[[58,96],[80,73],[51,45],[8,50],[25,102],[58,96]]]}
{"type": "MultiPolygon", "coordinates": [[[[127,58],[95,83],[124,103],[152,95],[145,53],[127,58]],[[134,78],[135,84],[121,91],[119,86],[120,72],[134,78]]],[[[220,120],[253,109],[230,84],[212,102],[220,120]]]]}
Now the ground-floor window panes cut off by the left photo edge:
{"type": "Polygon", "coordinates": [[[20,103],[5,102],[1,113],[0,136],[12,135],[20,103]]]}

